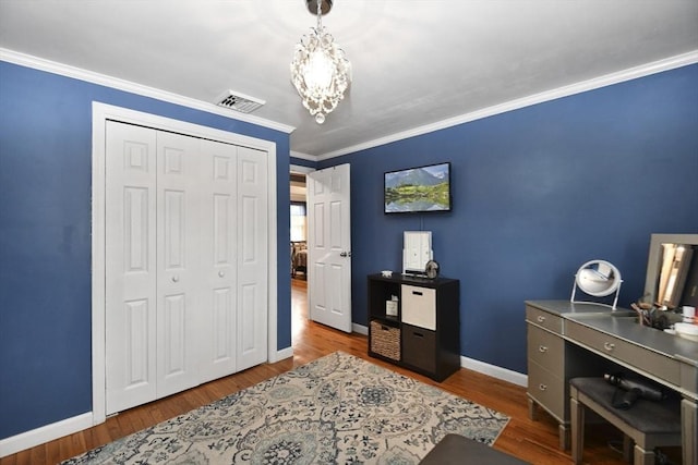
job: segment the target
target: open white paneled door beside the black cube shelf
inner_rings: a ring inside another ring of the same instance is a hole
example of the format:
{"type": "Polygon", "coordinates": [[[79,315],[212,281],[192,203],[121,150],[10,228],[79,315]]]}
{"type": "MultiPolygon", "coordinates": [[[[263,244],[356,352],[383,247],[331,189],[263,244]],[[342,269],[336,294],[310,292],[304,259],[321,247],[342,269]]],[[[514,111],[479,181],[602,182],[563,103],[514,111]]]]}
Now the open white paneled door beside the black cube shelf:
{"type": "Polygon", "coordinates": [[[349,164],[308,174],[310,319],[351,332],[349,164]]]}

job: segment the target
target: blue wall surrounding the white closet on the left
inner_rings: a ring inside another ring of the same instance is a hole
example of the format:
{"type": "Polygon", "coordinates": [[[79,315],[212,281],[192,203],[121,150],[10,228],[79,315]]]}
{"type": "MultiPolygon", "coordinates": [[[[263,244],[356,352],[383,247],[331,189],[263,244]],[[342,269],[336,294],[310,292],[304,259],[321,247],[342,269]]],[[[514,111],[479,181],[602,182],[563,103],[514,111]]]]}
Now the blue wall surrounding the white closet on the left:
{"type": "MultiPolygon", "coordinates": [[[[0,62],[0,439],[92,411],[93,100],[275,142],[288,257],[288,134],[0,62]]],[[[278,348],[290,344],[284,261],[278,348]]]]}

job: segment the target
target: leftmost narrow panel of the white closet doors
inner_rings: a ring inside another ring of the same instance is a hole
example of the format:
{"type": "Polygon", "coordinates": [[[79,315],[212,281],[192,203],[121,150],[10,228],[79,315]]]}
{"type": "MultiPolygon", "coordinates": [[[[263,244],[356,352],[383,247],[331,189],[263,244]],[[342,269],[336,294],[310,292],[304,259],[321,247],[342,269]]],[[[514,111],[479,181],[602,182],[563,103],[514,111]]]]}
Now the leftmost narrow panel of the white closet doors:
{"type": "Polygon", "coordinates": [[[156,132],[107,123],[106,413],[156,393],[156,132]]]}

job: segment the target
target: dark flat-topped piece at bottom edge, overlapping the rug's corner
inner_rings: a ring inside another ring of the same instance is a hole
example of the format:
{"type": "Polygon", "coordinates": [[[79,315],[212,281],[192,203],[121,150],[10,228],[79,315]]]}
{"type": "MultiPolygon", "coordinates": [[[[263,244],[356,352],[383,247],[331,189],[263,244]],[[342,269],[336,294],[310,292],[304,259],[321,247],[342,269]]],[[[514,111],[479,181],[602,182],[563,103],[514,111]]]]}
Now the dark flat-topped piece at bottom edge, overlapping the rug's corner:
{"type": "Polygon", "coordinates": [[[461,464],[526,465],[528,462],[460,435],[446,435],[420,462],[420,465],[461,464]]]}

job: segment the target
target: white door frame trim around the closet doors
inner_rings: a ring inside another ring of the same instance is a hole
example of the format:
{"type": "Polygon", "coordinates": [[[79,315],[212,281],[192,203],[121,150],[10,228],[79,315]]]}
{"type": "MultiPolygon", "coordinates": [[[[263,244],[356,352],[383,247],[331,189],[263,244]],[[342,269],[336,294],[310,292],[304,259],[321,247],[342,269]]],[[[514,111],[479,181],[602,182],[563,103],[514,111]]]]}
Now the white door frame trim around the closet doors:
{"type": "Polygon", "coordinates": [[[276,143],[188,123],[156,114],[93,101],[92,105],[92,419],[106,420],[106,346],[105,346],[105,176],[107,120],[170,131],[221,143],[241,145],[267,152],[267,362],[280,359],[277,350],[277,204],[276,143]]]}

